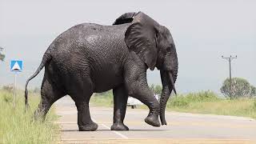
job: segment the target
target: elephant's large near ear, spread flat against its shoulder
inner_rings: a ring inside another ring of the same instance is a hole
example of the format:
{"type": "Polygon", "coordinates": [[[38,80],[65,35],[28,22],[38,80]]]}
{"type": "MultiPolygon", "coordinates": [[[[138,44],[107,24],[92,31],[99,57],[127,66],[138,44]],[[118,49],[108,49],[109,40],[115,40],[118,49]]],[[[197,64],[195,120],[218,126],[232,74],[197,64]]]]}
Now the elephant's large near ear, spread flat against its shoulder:
{"type": "Polygon", "coordinates": [[[150,70],[154,70],[158,56],[157,26],[159,26],[158,22],[139,12],[125,34],[126,46],[138,54],[150,70]]]}

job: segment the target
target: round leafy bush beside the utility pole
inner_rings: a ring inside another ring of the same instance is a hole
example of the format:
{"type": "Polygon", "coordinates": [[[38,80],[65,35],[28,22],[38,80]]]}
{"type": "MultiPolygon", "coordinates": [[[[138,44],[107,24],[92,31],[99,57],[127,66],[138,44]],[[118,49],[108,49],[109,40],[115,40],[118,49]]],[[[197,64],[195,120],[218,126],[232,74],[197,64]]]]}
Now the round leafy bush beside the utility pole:
{"type": "Polygon", "coordinates": [[[227,98],[241,98],[241,97],[250,97],[251,94],[254,94],[255,87],[250,86],[250,83],[247,82],[244,78],[231,78],[231,91],[230,91],[230,79],[226,78],[221,87],[222,94],[227,98]]]}

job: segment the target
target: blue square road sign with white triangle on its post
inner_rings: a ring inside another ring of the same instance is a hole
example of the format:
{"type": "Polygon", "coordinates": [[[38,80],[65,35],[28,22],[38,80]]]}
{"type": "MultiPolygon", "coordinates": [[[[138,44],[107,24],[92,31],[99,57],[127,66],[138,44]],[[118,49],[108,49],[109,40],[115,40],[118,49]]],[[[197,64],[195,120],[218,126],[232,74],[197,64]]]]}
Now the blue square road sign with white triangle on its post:
{"type": "Polygon", "coordinates": [[[22,63],[19,60],[10,61],[10,71],[14,72],[14,107],[16,106],[17,74],[22,72],[22,63]]]}

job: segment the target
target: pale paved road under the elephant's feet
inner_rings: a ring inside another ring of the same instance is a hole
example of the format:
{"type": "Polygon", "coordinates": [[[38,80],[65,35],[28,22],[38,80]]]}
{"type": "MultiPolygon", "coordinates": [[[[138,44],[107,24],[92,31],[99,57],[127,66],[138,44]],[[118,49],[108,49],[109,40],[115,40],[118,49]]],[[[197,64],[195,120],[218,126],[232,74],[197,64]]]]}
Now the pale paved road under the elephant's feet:
{"type": "Polygon", "coordinates": [[[144,122],[148,110],[127,108],[129,131],[111,131],[113,108],[90,106],[98,130],[80,132],[77,110],[70,97],[56,104],[62,143],[256,143],[256,121],[250,118],[210,114],[167,112],[167,126],[153,127],[144,122]]]}

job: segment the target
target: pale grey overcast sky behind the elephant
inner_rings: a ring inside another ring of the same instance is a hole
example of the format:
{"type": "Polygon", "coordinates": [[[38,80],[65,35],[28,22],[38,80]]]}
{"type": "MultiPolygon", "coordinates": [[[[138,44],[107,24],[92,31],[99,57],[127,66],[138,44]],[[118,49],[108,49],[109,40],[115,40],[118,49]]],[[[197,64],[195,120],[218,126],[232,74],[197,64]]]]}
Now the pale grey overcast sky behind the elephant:
{"type": "MultiPolygon", "coordinates": [[[[18,86],[24,86],[38,68],[50,42],[63,31],[83,22],[111,25],[126,12],[142,11],[170,29],[178,52],[179,93],[219,88],[229,76],[222,55],[238,55],[232,62],[234,77],[256,86],[256,1],[12,1],[0,0],[0,46],[6,61],[0,62],[0,85],[14,82],[10,60],[22,59],[24,70],[18,86]]],[[[41,86],[42,75],[30,82],[41,86]]],[[[149,83],[161,84],[159,71],[148,73],[149,83]]]]}

